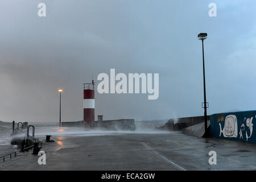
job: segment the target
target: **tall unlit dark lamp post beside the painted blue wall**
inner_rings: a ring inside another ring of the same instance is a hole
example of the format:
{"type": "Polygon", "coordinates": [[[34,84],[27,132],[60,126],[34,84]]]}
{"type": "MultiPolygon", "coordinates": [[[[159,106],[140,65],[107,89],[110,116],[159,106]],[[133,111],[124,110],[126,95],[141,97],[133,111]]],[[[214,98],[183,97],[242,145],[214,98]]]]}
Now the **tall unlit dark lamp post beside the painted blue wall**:
{"type": "Polygon", "coordinates": [[[207,133],[207,101],[206,101],[206,91],[205,91],[205,71],[204,71],[204,40],[207,39],[207,33],[200,33],[197,35],[199,40],[202,40],[203,47],[203,72],[204,72],[204,130],[207,133]]]}

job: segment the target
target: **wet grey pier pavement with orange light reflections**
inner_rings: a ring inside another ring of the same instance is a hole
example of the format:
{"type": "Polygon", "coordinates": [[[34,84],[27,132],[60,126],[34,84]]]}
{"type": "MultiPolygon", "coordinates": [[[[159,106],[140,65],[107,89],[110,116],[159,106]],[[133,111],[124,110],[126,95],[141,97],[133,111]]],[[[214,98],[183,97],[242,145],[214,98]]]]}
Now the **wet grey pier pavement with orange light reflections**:
{"type": "Polygon", "coordinates": [[[0,163],[0,170],[256,170],[256,144],[184,133],[53,135],[44,142],[46,165],[31,151],[0,163]],[[209,151],[217,152],[210,165],[209,151]]]}

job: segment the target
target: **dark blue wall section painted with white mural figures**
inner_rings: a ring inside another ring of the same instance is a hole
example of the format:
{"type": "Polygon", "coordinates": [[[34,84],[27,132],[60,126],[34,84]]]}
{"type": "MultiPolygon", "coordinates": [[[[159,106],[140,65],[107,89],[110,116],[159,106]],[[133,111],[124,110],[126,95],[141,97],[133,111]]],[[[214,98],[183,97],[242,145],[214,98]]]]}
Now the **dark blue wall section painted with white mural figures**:
{"type": "Polygon", "coordinates": [[[256,111],[213,114],[210,116],[210,133],[215,138],[256,143],[255,121],[256,111]]]}

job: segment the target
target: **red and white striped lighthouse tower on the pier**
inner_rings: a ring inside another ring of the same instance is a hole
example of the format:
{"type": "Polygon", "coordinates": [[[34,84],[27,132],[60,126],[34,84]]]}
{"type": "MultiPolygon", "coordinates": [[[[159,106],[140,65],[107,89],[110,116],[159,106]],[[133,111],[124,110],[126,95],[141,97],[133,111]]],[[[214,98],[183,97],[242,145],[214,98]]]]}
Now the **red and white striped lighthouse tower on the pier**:
{"type": "Polygon", "coordinates": [[[85,127],[93,127],[94,122],[94,81],[84,84],[84,124],[85,127]]]}

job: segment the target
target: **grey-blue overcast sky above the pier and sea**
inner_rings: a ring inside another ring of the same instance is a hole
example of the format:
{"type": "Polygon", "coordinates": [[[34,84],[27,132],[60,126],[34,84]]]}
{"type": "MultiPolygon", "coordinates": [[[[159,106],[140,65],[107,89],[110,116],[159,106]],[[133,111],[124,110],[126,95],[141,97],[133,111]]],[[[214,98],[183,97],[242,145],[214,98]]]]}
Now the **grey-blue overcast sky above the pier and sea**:
{"type": "MultiPolygon", "coordinates": [[[[105,119],[203,115],[197,34],[207,32],[208,114],[256,109],[256,1],[1,0],[0,121],[83,118],[92,73],[159,73],[159,98],[99,94],[105,119]],[[38,16],[46,3],[47,16],[38,16]],[[217,17],[208,5],[217,5],[217,17]]],[[[96,84],[98,82],[96,81],[96,84]]],[[[97,117],[96,117],[97,118],[97,117]]]]}

